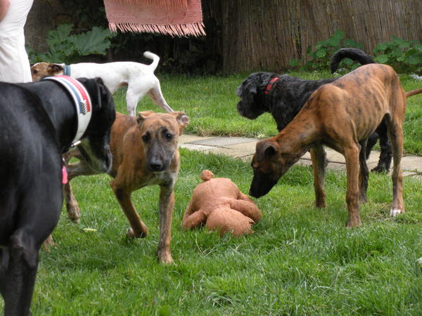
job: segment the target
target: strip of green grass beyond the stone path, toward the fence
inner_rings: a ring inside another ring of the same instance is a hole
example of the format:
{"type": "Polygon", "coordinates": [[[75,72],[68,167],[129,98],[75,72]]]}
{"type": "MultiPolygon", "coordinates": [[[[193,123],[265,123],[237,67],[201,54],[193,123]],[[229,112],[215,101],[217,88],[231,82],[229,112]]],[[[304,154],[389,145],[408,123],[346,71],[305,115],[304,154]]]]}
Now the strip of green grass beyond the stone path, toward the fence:
{"type": "MultiPolygon", "coordinates": [[[[236,112],[239,98],[236,88],[248,74],[234,74],[229,77],[184,77],[157,74],[162,93],[174,110],[183,110],[191,118],[186,133],[198,135],[248,136],[266,138],[277,133],[276,124],[266,113],[255,120],[245,119],[236,112]]],[[[303,79],[332,77],[328,72],[291,73],[303,79]]],[[[409,75],[400,75],[405,91],[422,88],[422,81],[409,75]]],[[[115,93],[117,110],[127,113],[125,91],[115,93]]],[[[143,98],[137,110],[155,110],[158,107],[148,96],[143,98]]],[[[404,152],[422,154],[422,94],[407,101],[404,121],[404,152]]]]}

